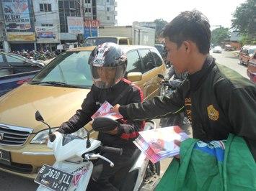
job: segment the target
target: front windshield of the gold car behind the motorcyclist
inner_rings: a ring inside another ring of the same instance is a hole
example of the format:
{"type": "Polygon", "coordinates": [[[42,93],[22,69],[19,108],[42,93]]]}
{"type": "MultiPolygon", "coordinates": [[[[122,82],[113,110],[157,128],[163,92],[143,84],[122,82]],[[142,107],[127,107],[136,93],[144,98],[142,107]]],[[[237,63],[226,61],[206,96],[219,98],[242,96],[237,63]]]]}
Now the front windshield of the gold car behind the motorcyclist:
{"type": "Polygon", "coordinates": [[[91,51],[64,52],[40,71],[30,84],[90,88],[92,75],[88,64],[91,51]]]}

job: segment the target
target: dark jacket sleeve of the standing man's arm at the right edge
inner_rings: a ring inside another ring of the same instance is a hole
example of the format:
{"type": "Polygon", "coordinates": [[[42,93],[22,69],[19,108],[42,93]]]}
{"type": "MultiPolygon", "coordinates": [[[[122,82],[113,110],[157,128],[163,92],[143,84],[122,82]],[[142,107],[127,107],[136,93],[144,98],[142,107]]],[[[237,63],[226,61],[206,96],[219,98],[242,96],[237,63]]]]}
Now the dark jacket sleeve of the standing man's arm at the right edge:
{"type": "Polygon", "coordinates": [[[219,93],[219,103],[229,118],[234,134],[244,137],[256,159],[256,88],[226,86],[226,93],[219,93]]]}

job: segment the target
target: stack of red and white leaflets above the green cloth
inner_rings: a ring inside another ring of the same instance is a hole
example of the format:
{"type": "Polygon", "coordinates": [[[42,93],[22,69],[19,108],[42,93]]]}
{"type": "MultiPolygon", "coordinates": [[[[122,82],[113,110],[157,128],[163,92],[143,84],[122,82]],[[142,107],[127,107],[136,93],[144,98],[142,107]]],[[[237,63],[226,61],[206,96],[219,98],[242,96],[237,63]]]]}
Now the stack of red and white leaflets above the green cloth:
{"type": "Polygon", "coordinates": [[[139,132],[133,141],[151,162],[180,154],[180,142],[189,138],[179,126],[168,126],[139,132]]]}

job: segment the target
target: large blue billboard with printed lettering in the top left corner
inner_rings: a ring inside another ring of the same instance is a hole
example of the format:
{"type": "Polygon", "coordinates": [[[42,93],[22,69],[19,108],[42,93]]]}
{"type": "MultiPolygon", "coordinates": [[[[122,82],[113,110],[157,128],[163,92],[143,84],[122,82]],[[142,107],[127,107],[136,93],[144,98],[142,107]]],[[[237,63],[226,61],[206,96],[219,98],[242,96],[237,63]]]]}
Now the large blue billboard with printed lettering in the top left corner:
{"type": "Polygon", "coordinates": [[[2,0],[7,32],[30,31],[30,0],[2,0]]]}

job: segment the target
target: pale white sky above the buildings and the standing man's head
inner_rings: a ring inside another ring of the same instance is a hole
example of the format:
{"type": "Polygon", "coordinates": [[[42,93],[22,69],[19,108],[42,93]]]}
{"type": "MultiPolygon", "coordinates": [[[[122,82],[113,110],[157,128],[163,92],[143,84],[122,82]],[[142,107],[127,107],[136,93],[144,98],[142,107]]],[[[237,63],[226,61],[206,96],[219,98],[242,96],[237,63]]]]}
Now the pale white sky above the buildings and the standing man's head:
{"type": "Polygon", "coordinates": [[[118,6],[118,25],[131,25],[134,21],[153,22],[164,19],[170,22],[181,11],[198,9],[208,17],[211,29],[214,25],[231,27],[232,13],[246,0],[115,0],[118,6]]]}

